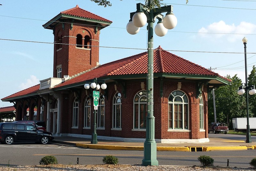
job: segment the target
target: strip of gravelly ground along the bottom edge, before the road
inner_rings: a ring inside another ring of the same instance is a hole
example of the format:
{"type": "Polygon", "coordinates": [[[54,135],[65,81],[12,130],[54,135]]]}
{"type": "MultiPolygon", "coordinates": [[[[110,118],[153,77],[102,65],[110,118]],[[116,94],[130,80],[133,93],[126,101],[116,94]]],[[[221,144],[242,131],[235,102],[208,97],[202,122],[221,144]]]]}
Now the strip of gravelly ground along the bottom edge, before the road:
{"type": "Polygon", "coordinates": [[[253,171],[241,167],[200,167],[200,166],[141,166],[141,165],[51,165],[51,166],[6,166],[0,171],[253,171]]]}

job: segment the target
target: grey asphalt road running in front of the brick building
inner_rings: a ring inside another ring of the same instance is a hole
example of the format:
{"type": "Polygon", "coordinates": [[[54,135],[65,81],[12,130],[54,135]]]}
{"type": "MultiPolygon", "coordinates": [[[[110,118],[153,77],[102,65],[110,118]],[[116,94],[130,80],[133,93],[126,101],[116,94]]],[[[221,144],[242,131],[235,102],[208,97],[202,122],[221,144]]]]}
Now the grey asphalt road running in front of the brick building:
{"type": "MultiPolygon", "coordinates": [[[[119,164],[141,164],[143,151],[92,150],[74,146],[13,144],[0,145],[0,165],[38,165],[42,157],[54,155],[60,164],[103,164],[106,155],[116,156],[119,164]]],[[[212,151],[212,152],[157,152],[159,165],[193,166],[200,165],[200,155],[211,156],[215,166],[250,167],[255,150],[212,151]]]]}

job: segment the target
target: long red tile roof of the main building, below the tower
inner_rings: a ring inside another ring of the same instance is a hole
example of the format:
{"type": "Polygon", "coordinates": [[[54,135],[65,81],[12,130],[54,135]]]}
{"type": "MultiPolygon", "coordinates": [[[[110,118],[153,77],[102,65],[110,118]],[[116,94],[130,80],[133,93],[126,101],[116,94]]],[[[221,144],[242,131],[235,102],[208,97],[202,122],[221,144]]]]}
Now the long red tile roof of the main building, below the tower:
{"type": "MultiPolygon", "coordinates": [[[[134,56],[126,57],[117,61],[100,65],[99,67],[91,71],[85,72],[84,74],[81,74],[59,85],[56,85],[54,88],[84,82],[93,78],[101,78],[114,75],[120,76],[132,74],[146,74],[148,72],[147,66],[148,53],[143,52],[134,56]]],[[[168,51],[165,51],[160,46],[154,50],[154,73],[217,76],[226,81],[231,81],[228,78],[220,76],[218,73],[210,71],[200,65],[197,65],[168,51]]],[[[40,85],[35,85],[26,90],[22,90],[18,93],[5,97],[2,100],[26,95],[29,93],[35,93],[39,90],[39,87],[40,85]]]]}

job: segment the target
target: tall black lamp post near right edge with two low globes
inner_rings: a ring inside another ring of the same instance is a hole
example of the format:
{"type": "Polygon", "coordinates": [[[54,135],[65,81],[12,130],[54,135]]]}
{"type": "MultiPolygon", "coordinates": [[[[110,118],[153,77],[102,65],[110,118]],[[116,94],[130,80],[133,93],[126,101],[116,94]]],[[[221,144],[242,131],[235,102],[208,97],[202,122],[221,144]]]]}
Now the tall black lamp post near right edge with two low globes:
{"type": "Polygon", "coordinates": [[[252,143],[252,139],[251,139],[251,133],[250,133],[250,124],[249,124],[249,101],[248,101],[248,92],[250,95],[253,95],[256,93],[256,90],[254,89],[254,85],[250,85],[248,86],[248,79],[247,79],[247,54],[246,54],[246,44],[248,39],[246,37],[244,37],[244,39],[242,40],[244,43],[244,62],[245,62],[245,86],[241,85],[239,87],[239,90],[237,91],[237,93],[239,95],[243,95],[244,93],[246,93],[246,117],[247,117],[247,125],[246,125],[246,143],[252,143]]]}

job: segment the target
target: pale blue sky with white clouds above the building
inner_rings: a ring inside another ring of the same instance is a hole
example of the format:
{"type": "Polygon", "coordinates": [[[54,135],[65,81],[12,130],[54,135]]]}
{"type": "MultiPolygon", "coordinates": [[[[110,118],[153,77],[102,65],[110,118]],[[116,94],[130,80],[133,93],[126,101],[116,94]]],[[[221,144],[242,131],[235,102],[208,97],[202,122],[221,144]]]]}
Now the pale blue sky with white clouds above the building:
{"type": "MultiPolygon", "coordinates": [[[[136,11],[136,4],[144,4],[144,1],[110,2],[112,6],[104,8],[90,0],[0,0],[0,99],[52,77],[53,44],[49,43],[53,42],[53,34],[52,30],[44,29],[42,25],[77,4],[84,10],[113,21],[100,32],[100,64],[145,52],[146,26],[135,35],[127,33],[125,29],[130,12],[136,11]]],[[[186,0],[164,0],[163,3],[172,3],[178,24],[163,37],[154,35],[154,48],[160,45],[205,68],[217,68],[213,71],[222,76],[233,77],[237,74],[245,82],[242,39],[244,36],[248,39],[247,64],[250,74],[256,58],[256,0],[189,0],[188,4],[186,0]]],[[[12,105],[0,100],[0,107],[12,105]]]]}

